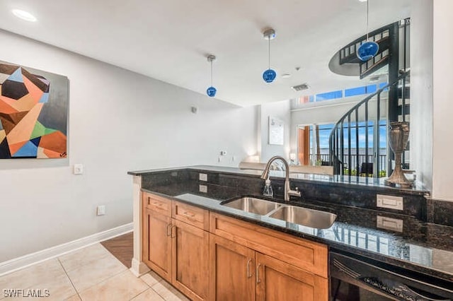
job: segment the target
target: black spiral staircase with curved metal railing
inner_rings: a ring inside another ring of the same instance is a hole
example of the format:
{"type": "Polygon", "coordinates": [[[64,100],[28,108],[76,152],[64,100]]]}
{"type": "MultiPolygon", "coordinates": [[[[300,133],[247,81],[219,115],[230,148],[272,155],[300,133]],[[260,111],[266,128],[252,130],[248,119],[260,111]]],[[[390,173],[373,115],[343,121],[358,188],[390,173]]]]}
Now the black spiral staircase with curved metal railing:
{"type": "MultiPolygon", "coordinates": [[[[372,94],[333,126],[329,160],[337,175],[386,177],[394,168],[387,127],[390,122],[410,120],[409,25],[410,20],[405,19],[372,31],[370,40],[379,44],[379,52],[369,61],[360,61],[356,55],[365,36],[350,42],[331,59],[331,71],[344,76],[369,76],[372,80],[385,72],[388,76],[384,85],[345,90],[345,96],[363,93],[364,88],[365,93],[372,94]]],[[[408,148],[403,154],[403,168],[409,168],[408,148]]]]}

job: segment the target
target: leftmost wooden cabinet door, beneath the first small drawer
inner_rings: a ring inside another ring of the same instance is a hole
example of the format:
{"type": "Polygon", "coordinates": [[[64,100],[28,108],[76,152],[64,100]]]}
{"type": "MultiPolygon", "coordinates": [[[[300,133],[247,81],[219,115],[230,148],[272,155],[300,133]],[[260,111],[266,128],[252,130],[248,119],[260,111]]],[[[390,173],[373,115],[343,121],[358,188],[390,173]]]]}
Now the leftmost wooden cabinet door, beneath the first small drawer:
{"type": "Polygon", "coordinates": [[[144,211],[143,261],[166,281],[171,281],[171,217],[144,211]]]}

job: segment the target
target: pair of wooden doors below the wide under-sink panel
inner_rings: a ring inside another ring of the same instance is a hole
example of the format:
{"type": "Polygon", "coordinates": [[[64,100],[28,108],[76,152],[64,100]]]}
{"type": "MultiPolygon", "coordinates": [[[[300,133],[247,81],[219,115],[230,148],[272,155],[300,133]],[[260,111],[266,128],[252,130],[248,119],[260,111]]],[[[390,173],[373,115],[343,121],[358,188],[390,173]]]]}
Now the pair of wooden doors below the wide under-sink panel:
{"type": "Polygon", "coordinates": [[[284,261],[216,235],[210,236],[211,300],[328,299],[328,282],[284,261]]]}

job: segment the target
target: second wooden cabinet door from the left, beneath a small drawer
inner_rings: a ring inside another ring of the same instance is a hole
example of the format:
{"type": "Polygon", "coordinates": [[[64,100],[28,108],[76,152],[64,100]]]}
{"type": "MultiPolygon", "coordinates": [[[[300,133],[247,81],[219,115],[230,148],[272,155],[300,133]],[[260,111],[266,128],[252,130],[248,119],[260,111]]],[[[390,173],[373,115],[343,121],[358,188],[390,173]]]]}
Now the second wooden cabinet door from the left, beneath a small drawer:
{"type": "Polygon", "coordinates": [[[172,283],[191,300],[209,297],[209,232],[173,218],[172,283]]]}

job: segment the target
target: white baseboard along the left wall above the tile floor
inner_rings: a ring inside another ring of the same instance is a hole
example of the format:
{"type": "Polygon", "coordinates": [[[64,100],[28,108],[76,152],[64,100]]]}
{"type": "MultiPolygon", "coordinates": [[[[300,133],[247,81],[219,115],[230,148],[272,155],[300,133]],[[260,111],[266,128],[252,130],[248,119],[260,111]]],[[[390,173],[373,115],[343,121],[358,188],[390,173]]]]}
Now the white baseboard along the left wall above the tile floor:
{"type": "Polygon", "coordinates": [[[63,254],[73,252],[77,249],[88,247],[91,244],[96,244],[98,242],[123,235],[125,233],[131,232],[133,230],[133,227],[133,223],[120,225],[119,227],[105,230],[103,232],[98,232],[93,235],[88,235],[86,237],[79,238],[78,240],[73,240],[71,242],[59,244],[55,247],[43,249],[42,251],[0,262],[0,276],[20,270],[21,268],[25,268],[27,266],[32,266],[33,264],[38,264],[39,262],[45,261],[47,259],[62,256],[63,254]]]}

